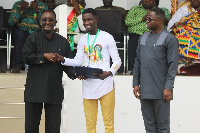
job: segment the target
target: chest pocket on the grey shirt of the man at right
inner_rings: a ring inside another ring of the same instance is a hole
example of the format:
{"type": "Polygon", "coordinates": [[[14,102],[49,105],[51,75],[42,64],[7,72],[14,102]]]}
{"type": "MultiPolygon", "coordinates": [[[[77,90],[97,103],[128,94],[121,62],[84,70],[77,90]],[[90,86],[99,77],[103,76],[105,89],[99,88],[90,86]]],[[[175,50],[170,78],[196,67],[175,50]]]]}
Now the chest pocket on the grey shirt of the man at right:
{"type": "Polygon", "coordinates": [[[155,59],[162,59],[165,58],[167,55],[166,48],[163,45],[153,47],[152,53],[153,53],[153,58],[155,59]]]}

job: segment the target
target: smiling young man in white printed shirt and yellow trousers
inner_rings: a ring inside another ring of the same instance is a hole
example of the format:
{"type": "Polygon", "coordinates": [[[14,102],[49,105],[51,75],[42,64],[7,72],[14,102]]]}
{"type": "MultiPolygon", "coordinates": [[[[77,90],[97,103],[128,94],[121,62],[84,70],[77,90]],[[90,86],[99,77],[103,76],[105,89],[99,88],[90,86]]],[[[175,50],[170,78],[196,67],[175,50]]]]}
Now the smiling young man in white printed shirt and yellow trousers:
{"type": "MultiPolygon", "coordinates": [[[[112,35],[99,30],[97,14],[92,8],[83,12],[83,25],[88,31],[81,37],[74,59],[56,54],[57,61],[66,66],[85,66],[100,68],[103,74],[95,74],[99,79],[85,79],[82,84],[83,105],[86,117],[87,133],[96,133],[98,100],[101,104],[105,133],[114,133],[114,82],[113,78],[121,65],[117,46],[112,35]],[[112,66],[110,67],[110,57],[112,66]]],[[[79,77],[80,78],[80,77],[79,77]]]]}

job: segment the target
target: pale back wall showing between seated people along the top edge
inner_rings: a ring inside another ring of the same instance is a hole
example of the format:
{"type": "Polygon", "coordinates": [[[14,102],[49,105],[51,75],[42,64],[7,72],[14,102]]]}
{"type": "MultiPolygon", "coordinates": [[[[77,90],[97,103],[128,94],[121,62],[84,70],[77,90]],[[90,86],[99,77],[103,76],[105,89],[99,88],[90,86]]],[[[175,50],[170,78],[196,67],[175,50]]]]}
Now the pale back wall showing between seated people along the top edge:
{"type": "MultiPolygon", "coordinates": [[[[0,0],[0,5],[5,9],[11,9],[13,4],[18,0],[0,0]]],[[[56,0],[58,3],[66,2],[67,0],[56,0]]],[[[87,5],[86,8],[95,8],[98,6],[102,6],[102,0],[85,0],[87,5]]],[[[113,0],[113,5],[120,6],[129,10],[133,6],[137,6],[140,0],[113,0]]],[[[166,7],[171,10],[171,1],[170,0],[160,0],[159,7],[166,7]]]]}

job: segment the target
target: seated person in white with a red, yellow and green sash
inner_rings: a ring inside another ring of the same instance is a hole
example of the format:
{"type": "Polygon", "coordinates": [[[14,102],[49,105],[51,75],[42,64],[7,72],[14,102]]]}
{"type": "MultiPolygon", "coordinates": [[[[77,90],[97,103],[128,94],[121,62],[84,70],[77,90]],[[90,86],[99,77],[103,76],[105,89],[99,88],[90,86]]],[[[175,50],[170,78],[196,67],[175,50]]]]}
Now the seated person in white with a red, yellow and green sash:
{"type": "MultiPolygon", "coordinates": [[[[67,0],[67,32],[75,32],[75,33],[80,33],[77,35],[72,35],[72,34],[67,34],[67,40],[70,43],[71,50],[74,50],[74,43],[78,44],[79,39],[81,36],[84,35],[85,27],[83,26],[83,20],[82,20],[82,12],[84,11],[85,8],[85,0],[67,0]],[[81,3],[81,4],[79,4],[81,3]],[[84,7],[82,7],[84,6],[84,7]]],[[[59,6],[58,6],[59,7],[59,6]]],[[[55,13],[56,13],[56,20],[57,20],[57,25],[56,28],[59,29],[58,24],[59,24],[59,19],[58,19],[58,7],[55,8],[55,13]]]]}

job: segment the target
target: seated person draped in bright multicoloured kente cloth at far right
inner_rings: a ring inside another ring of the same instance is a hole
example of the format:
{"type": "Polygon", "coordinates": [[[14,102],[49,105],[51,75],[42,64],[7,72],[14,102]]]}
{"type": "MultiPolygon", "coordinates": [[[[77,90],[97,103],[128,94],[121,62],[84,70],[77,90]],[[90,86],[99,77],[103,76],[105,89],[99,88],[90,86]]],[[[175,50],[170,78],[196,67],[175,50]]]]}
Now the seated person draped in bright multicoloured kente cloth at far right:
{"type": "Polygon", "coordinates": [[[182,6],[175,12],[167,28],[179,40],[179,66],[184,67],[194,66],[200,59],[200,2],[188,2],[189,5],[182,6]]]}

